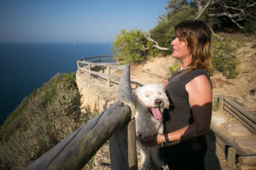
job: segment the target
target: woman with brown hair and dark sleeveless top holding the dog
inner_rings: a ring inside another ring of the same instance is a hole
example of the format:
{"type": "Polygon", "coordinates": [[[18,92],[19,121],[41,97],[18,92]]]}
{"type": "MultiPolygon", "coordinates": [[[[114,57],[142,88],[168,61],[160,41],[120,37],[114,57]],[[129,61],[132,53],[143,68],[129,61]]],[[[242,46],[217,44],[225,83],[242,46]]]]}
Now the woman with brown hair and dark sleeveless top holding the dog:
{"type": "Polygon", "coordinates": [[[164,112],[165,134],[156,134],[141,141],[146,147],[181,141],[165,147],[165,158],[171,169],[204,169],[207,151],[205,134],[212,116],[212,83],[209,72],[210,30],[203,21],[182,21],[175,26],[176,38],[171,42],[172,56],[181,61],[165,91],[170,108],[164,112]],[[186,73],[183,73],[186,72],[186,73]]]}

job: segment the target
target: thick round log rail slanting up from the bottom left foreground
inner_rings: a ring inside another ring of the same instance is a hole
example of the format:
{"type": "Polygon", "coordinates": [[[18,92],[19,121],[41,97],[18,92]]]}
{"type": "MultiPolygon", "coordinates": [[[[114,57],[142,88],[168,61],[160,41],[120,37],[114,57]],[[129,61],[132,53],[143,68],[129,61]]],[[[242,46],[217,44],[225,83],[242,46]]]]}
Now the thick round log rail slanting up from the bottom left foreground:
{"type": "Polygon", "coordinates": [[[127,121],[130,108],[116,102],[43,154],[26,170],[82,169],[98,149],[127,121]]]}

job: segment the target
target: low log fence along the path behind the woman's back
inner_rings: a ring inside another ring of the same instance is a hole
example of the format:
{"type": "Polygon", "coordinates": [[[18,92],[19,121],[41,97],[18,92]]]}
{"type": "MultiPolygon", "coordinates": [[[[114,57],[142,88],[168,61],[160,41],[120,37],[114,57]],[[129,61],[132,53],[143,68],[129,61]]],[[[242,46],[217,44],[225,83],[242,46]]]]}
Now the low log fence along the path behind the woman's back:
{"type": "MultiPolygon", "coordinates": [[[[219,97],[213,98],[213,103],[215,106],[218,106],[220,111],[225,110],[229,114],[233,115],[237,120],[239,120],[243,125],[245,125],[251,132],[256,134],[256,116],[252,113],[246,111],[239,104],[232,101],[225,95],[220,95],[219,97]]],[[[215,134],[215,141],[218,145],[225,151],[225,147],[229,146],[227,154],[227,162],[229,164],[234,164],[236,160],[236,155],[238,157],[238,168],[244,169],[246,166],[253,166],[256,168],[256,155],[250,155],[245,152],[242,148],[235,143],[234,140],[224,135],[218,128],[211,124],[210,129],[215,134]]]]}

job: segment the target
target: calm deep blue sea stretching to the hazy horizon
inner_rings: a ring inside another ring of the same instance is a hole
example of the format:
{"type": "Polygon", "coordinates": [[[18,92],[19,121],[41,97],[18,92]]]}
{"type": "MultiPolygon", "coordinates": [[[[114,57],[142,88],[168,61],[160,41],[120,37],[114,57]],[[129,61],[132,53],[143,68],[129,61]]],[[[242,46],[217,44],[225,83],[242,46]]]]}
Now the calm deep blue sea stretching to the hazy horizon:
{"type": "Polygon", "coordinates": [[[76,71],[76,60],[112,55],[110,47],[111,43],[0,44],[0,125],[33,89],[58,72],[76,71]]]}

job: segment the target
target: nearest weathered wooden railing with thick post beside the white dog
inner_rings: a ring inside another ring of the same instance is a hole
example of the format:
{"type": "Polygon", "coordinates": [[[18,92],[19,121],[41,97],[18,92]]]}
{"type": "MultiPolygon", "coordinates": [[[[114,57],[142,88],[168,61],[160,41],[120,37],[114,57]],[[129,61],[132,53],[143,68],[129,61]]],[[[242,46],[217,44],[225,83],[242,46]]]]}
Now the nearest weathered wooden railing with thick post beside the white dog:
{"type": "Polygon", "coordinates": [[[116,102],[43,154],[26,170],[82,169],[107,140],[111,169],[137,170],[135,107],[130,84],[130,68],[124,65],[116,102]]]}

